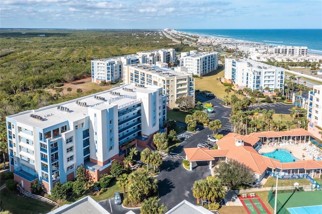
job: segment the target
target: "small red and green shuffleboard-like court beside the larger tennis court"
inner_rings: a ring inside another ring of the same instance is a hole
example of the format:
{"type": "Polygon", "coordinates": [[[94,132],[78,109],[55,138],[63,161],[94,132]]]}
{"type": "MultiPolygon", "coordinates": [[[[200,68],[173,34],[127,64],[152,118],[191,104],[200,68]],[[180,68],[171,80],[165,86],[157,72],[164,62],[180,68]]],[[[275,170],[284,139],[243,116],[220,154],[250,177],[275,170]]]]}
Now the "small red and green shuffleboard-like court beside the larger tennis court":
{"type": "Polygon", "coordinates": [[[255,197],[247,196],[247,197],[238,197],[245,207],[246,211],[249,214],[267,214],[270,213],[261,198],[257,195],[255,197]]]}

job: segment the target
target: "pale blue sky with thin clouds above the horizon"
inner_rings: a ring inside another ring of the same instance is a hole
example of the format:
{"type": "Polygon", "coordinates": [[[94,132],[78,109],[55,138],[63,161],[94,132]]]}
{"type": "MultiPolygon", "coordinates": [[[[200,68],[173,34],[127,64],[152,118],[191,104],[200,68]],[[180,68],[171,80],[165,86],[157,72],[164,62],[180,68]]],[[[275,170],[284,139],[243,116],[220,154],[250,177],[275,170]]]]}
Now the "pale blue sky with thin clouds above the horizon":
{"type": "Polygon", "coordinates": [[[1,0],[1,28],[322,28],[322,1],[1,0]]]}

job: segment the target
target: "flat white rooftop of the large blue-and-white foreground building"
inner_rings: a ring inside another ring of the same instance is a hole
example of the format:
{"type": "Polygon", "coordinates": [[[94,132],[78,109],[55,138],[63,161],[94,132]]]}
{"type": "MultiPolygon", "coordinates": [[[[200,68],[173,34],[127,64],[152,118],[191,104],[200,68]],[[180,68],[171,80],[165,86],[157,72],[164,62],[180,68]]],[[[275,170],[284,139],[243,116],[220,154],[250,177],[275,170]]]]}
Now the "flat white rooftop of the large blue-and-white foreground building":
{"type": "Polygon", "coordinates": [[[137,92],[150,93],[158,88],[153,85],[137,87],[134,83],[131,83],[66,102],[49,105],[38,110],[25,111],[8,116],[8,118],[24,122],[24,124],[30,126],[46,128],[64,121],[86,118],[88,117],[89,108],[104,110],[115,105],[118,105],[118,108],[120,108],[124,104],[137,100],[137,92]],[[35,117],[31,117],[31,115],[35,117]]]}

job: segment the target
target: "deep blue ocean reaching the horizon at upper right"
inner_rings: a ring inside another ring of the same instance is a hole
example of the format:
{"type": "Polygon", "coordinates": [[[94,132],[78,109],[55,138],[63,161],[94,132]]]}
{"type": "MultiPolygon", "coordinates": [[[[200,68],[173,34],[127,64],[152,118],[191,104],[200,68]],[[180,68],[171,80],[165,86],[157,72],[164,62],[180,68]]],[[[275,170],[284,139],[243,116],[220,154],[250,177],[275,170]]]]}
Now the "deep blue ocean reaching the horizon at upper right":
{"type": "Polygon", "coordinates": [[[322,55],[322,29],[176,29],[177,31],[260,42],[274,46],[306,46],[309,53],[322,55]]]}

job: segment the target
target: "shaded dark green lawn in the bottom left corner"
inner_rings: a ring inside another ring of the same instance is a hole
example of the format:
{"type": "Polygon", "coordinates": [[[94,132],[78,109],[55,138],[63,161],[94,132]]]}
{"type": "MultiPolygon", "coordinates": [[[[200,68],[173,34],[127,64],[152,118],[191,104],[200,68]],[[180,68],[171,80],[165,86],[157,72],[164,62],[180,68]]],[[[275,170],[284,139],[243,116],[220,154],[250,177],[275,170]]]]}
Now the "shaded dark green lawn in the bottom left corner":
{"type": "Polygon", "coordinates": [[[13,214],[47,213],[54,209],[53,206],[45,202],[27,196],[20,196],[16,191],[10,191],[7,188],[1,190],[1,201],[1,208],[13,214]]]}

